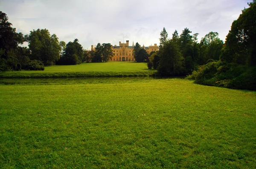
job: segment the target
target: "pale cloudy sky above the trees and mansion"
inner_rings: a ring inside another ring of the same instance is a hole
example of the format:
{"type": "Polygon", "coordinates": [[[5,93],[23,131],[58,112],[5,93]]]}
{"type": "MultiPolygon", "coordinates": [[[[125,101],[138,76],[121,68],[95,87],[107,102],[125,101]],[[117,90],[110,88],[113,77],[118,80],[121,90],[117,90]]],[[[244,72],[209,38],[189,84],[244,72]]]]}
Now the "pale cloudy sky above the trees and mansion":
{"type": "MultiPolygon", "coordinates": [[[[252,0],[0,0],[17,32],[48,29],[59,41],[79,39],[84,49],[97,43],[159,45],[160,32],[168,37],[184,28],[198,39],[210,31],[225,41],[231,24],[252,0]]],[[[23,45],[27,45],[26,43],[23,45]]]]}

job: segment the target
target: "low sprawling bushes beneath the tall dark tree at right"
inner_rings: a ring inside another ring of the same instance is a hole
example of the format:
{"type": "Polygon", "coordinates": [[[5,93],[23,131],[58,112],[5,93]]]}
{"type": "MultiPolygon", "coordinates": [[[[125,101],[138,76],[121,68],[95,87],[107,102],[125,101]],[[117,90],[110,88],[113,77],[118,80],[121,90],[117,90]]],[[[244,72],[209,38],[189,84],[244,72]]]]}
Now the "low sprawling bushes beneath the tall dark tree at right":
{"type": "Polygon", "coordinates": [[[209,61],[188,79],[195,79],[195,83],[201,85],[256,90],[256,68],[237,63],[209,61]]]}

